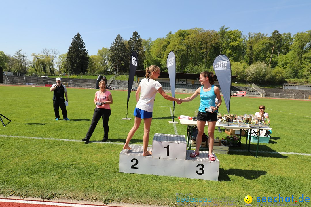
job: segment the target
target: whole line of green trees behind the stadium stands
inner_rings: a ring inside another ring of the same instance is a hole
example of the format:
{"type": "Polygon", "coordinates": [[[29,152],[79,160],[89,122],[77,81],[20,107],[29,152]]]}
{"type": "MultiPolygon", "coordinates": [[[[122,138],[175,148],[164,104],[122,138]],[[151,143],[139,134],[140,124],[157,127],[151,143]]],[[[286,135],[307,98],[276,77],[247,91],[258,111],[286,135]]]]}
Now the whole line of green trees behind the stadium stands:
{"type": "Polygon", "coordinates": [[[128,40],[119,34],[109,48],[101,48],[89,56],[79,33],[72,38],[66,54],[44,48],[42,54],[32,54],[28,60],[19,50],[14,56],[0,51],[0,66],[4,70],[28,74],[127,74],[129,57],[135,50],[137,70],[158,65],[167,71],[166,59],[170,51],[176,55],[176,71],[200,73],[213,71],[216,56],[224,54],[231,62],[235,81],[250,83],[282,83],[285,80],[311,83],[311,30],[296,34],[277,30],[269,36],[230,30],[202,28],[180,29],[163,38],[142,39],[135,31],[128,40]]]}

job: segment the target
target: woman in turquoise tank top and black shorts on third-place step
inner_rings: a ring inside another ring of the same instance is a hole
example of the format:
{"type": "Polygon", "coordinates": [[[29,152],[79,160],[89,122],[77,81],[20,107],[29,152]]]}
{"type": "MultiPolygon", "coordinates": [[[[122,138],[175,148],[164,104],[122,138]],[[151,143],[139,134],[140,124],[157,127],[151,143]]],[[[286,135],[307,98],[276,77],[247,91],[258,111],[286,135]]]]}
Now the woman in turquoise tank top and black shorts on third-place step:
{"type": "Polygon", "coordinates": [[[190,154],[190,157],[196,157],[199,155],[199,148],[202,142],[202,135],[204,133],[204,127],[206,122],[208,123],[208,154],[211,161],[216,160],[215,156],[212,154],[214,146],[214,130],[217,121],[216,110],[221,105],[220,91],[217,86],[214,86],[214,75],[212,72],[202,72],[200,74],[199,81],[201,82],[201,87],[198,88],[192,96],[182,99],[182,102],[192,101],[195,97],[200,94],[201,104],[199,107],[199,112],[197,113],[197,143],[196,149],[190,154]],[[215,98],[218,99],[218,104],[215,105],[215,98]]]}

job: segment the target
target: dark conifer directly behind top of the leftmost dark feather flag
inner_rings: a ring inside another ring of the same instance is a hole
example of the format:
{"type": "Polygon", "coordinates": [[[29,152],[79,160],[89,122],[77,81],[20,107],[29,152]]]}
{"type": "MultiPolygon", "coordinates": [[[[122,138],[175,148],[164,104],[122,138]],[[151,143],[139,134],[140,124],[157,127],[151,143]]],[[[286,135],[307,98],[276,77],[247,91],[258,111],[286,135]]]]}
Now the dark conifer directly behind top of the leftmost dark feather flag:
{"type": "MultiPolygon", "coordinates": [[[[137,70],[144,70],[143,63],[145,59],[145,51],[144,51],[144,47],[142,46],[142,38],[140,38],[139,34],[136,31],[133,32],[133,36],[128,40],[129,55],[131,55],[133,50],[137,52],[137,56],[138,56],[137,70]]],[[[128,61],[128,64],[129,64],[129,61],[128,61]]]]}

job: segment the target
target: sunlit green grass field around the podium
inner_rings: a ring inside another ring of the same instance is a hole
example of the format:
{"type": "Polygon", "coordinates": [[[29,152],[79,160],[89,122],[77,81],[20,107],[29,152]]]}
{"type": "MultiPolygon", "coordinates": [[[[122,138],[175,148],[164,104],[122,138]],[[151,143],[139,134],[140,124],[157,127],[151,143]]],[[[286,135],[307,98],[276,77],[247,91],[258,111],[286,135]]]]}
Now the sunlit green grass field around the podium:
{"type": "MultiPolygon", "coordinates": [[[[95,91],[68,88],[67,114],[71,121],[55,121],[53,93],[48,87],[0,85],[0,113],[12,120],[4,119],[6,127],[0,125],[0,194],[170,206],[177,203],[176,193],[192,193],[194,198],[238,198],[239,205],[245,205],[246,195],[253,197],[253,205],[258,196],[311,196],[310,101],[231,97],[233,114],[253,114],[259,105],[265,105],[271,118],[272,137],[268,144],[260,144],[259,150],[263,152],[257,158],[244,151],[245,137],[240,148],[230,147],[228,155],[217,154],[219,181],[205,181],[119,173],[118,155],[134,123],[134,119],[122,120],[126,117],[127,92],[111,91],[111,143],[85,144],[81,139],[91,124],[95,91]]],[[[181,98],[188,96],[176,94],[181,98]]],[[[193,116],[199,102],[196,98],[176,104],[175,119],[179,115],[193,116]]],[[[130,118],[135,105],[132,92],[130,118]]],[[[168,123],[170,110],[173,111],[172,102],[157,94],[149,144],[154,133],[174,134],[174,125],[168,123]]],[[[226,113],[224,102],[219,111],[226,113]]],[[[91,141],[103,138],[100,122],[91,141]]],[[[186,135],[185,125],[176,124],[176,129],[178,134],[186,135]]],[[[143,127],[131,143],[142,144],[142,135],[143,127]]],[[[224,132],[215,131],[215,137],[225,136],[224,132]]],[[[256,144],[251,144],[251,150],[255,149],[256,144]]]]}

